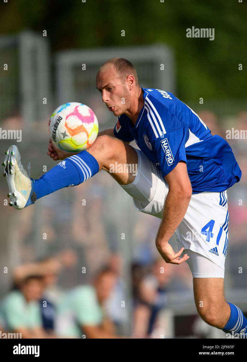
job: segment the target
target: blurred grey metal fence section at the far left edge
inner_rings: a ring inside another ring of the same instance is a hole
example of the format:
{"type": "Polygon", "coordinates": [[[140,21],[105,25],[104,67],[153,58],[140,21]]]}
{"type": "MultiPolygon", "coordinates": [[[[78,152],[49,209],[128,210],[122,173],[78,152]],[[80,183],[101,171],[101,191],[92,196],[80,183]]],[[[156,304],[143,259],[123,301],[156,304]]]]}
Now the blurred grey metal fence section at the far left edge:
{"type": "Polygon", "coordinates": [[[21,115],[25,126],[42,121],[52,109],[49,42],[32,32],[0,37],[0,117],[21,115]],[[48,100],[47,101],[44,100],[48,100]]]}

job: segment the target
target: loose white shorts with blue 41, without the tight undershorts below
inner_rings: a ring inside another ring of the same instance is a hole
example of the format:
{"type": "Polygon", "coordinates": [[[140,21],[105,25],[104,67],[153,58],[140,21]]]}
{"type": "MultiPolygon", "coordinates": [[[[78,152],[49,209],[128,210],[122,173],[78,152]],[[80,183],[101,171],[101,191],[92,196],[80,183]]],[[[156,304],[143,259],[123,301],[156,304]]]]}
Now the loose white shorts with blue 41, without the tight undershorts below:
{"type": "MultiPolygon", "coordinates": [[[[136,151],[139,163],[135,181],[131,185],[127,185],[127,188],[122,187],[132,195],[138,211],[162,219],[168,185],[161,171],[145,153],[140,150],[136,151]],[[147,187],[143,187],[144,183],[154,177],[157,179],[154,197],[151,201],[147,197],[147,204],[143,205],[143,202],[140,203],[135,199],[135,188],[147,190],[147,187]]],[[[192,195],[184,219],[175,232],[178,250],[182,247],[190,249],[205,256],[224,270],[228,247],[228,222],[226,191],[192,195]]]]}

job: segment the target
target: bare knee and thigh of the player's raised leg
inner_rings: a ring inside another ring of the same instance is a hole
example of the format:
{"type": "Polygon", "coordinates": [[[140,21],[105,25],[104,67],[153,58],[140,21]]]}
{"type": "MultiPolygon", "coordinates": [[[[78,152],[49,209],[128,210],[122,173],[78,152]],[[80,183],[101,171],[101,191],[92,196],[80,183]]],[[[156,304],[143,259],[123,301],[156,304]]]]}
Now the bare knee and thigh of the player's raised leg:
{"type": "Polygon", "coordinates": [[[121,185],[135,180],[138,155],[135,148],[108,135],[99,136],[88,152],[98,161],[99,168],[109,172],[121,185]]]}

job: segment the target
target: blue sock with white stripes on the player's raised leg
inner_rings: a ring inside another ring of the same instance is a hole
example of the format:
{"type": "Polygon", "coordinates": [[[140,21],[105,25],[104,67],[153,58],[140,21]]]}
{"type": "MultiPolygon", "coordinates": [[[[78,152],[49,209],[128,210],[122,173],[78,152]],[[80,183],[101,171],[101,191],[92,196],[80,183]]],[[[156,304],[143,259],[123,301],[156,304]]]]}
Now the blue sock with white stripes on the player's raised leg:
{"type": "Polygon", "coordinates": [[[32,181],[32,195],[30,195],[32,198],[29,198],[26,206],[33,203],[32,201],[64,187],[79,185],[98,171],[98,161],[89,152],[82,151],[77,155],[70,156],[59,162],[38,180],[32,181]]]}

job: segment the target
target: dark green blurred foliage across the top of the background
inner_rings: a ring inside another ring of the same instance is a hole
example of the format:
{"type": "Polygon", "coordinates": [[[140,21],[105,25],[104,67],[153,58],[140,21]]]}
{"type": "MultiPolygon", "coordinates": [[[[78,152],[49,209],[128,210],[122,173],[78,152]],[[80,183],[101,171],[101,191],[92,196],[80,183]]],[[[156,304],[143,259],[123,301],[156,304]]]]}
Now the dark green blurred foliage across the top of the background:
{"type": "Polygon", "coordinates": [[[182,99],[246,95],[245,0],[8,0],[0,17],[1,34],[46,29],[53,52],[165,43],[175,53],[182,99]],[[214,41],[187,38],[192,26],[214,28],[214,41]]]}

